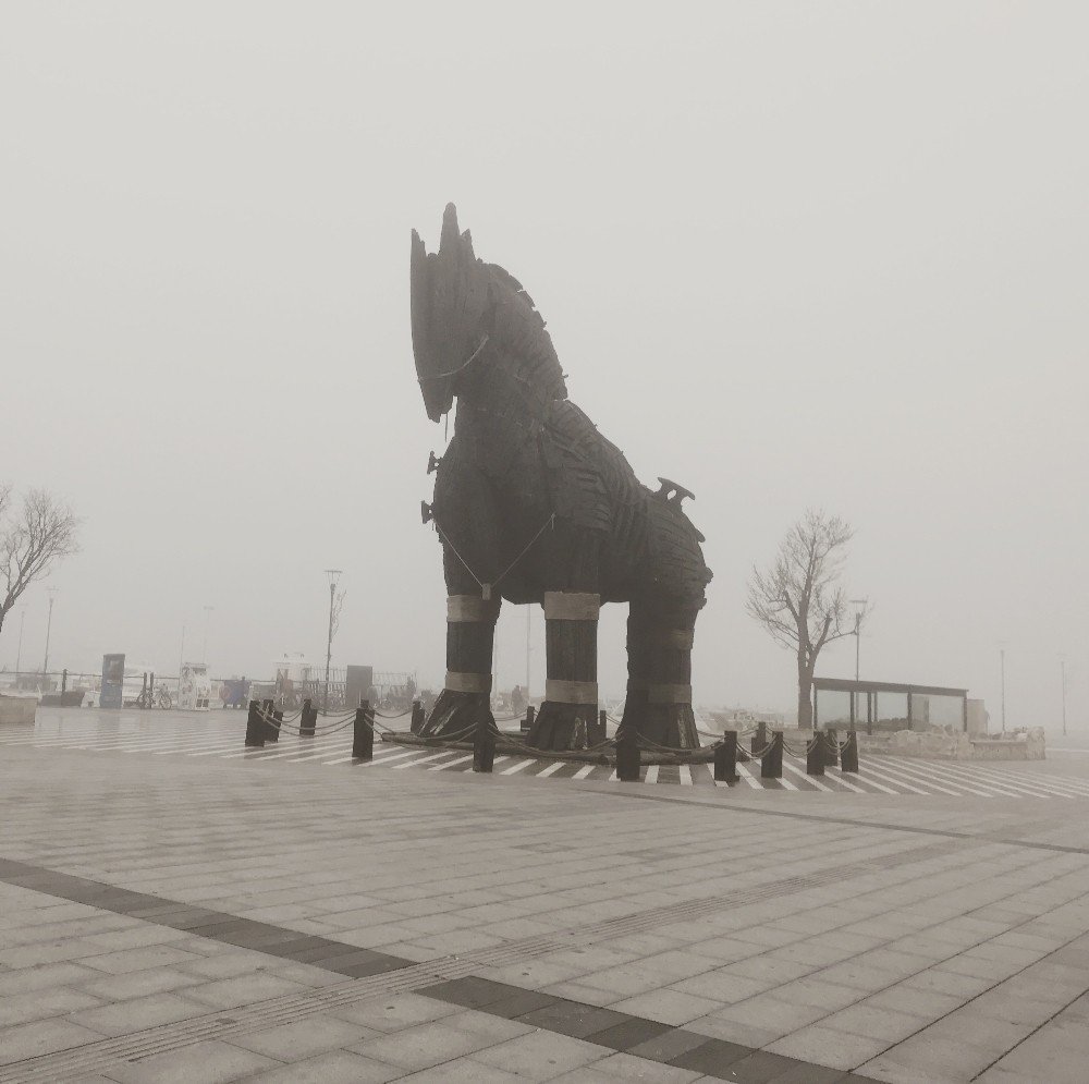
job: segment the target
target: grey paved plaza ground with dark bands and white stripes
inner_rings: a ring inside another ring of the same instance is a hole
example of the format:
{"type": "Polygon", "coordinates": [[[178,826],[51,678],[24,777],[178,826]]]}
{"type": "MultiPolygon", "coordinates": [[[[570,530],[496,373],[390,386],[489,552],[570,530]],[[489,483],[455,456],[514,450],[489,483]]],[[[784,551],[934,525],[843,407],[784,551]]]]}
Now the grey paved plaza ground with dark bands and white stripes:
{"type": "Polygon", "coordinates": [[[0,730],[0,1082],[1086,1079],[1087,755],[726,788],[244,728],[0,730]]]}

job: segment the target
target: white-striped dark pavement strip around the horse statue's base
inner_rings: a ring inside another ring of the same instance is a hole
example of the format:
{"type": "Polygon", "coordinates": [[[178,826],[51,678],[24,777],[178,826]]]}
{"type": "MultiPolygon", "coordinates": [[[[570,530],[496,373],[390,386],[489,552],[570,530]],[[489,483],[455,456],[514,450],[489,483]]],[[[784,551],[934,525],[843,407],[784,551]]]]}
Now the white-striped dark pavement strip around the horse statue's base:
{"type": "MultiPolygon", "coordinates": [[[[403,723],[402,723],[403,724],[403,723]]],[[[473,755],[463,750],[406,747],[392,742],[375,743],[370,762],[353,762],[352,729],[328,736],[302,739],[284,733],[277,744],[245,748],[243,712],[227,719],[210,717],[172,721],[169,717],[122,717],[105,722],[78,716],[60,723],[0,730],[0,747],[81,750],[90,753],[149,754],[151,756],[212,757],[223,760],[277,760],[284,764],[350,766],[353,770],[388,768],[391,771],[472,771],[473,755]]],[[[862,757],[857,774],[829,768],[824,776],[806,775],[805,760],[783,757],[782,779],[761,779],[759,763],[738,764],[741,789],[784,790],[809,793],[916,794],[949,797],[1089,797],[1089,779],[1044,776],[1019,770],[1016,764],[920,760],[902,756],[862,757]]],[[[494,772],[501,776],[615,782],[609,765],[587,765],[507,754],[497,756],[494,772]]],[[[715,783],[709,765],[651,765],[644,782],[680,787],[723,787],[715,783]]]]}

